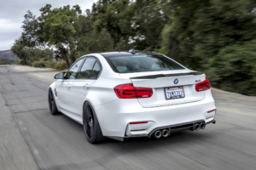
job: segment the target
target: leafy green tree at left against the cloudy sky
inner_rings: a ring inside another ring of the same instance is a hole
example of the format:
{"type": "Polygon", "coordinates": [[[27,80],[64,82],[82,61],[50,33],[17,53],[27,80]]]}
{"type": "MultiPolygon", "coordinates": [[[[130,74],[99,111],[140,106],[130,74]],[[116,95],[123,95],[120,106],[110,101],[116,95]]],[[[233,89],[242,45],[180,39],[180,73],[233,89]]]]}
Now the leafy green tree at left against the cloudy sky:
{"type": "Polygon", "coordinates": [[[81,14],[78,5],[51,9],[47,4],[40,11],[38,18],[30,11],[26,13],[23,32],[14,45],[15,54],[25,59],[24,64],[49,59],[46,56],[52,56],[50,48],[55,48],[55,59],[64,59],[67,68],[84,54],[113,50],[108,31],[94,29],[89,9],[81,14]]]}

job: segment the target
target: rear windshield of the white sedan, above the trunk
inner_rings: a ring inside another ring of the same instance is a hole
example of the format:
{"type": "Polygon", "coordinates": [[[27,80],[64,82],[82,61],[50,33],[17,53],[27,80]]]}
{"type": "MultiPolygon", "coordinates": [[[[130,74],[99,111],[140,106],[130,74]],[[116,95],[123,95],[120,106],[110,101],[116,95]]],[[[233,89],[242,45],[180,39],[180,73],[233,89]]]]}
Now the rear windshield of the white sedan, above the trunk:
{"type": "Polygon", "coordinates": [[[106,57],[113,71],[119,73],[144,71],[171,71],[184,69],[172,59],[160,54],[139,54],[128,56],[106,57]]]}

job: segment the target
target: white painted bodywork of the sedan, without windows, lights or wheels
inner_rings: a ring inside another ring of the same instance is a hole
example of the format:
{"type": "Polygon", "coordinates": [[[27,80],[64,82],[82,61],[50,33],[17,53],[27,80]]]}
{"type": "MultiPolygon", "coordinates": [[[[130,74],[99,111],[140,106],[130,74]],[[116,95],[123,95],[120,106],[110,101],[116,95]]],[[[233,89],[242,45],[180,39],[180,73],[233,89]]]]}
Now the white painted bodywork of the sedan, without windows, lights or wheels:
{"type": "Polygon", "coordinates": [[[130,79],[131,77],[151,74],[171,74],[171,72],[175,74],[191,71],[184,69],[180,71],[119,74],[112,70],[101,54],[89,54],[88,56],[94,56],[101,62],[102,72],[100,77],[90,81],[86,79],[72,80],[70,81],[70,89],[67,89],[67,84],[64,84],[65,81],[69,82],[68,80],[58,80],[50,88],[57,89],[58,97],[55,97],[55,101],[59,111],[81,124],[84,102],[90,102],[94,111],[96,111],[104,136],[124,137],[125,133],[131,136],[147,135],[156,127],[199,120],[206,121],[205,113],[216,108],[211,90],[199,93],[195,91],[195,80],[205,80],[204,74],[199,76],[162,77],[150,80],[130,79]],[[172,87],[175,78],[179,80],[177,86],[183,86],[185,98],[166,100],[163,88],[172,87]],[[113,88],[119,84],[132,82],[136,87],[154,88],[154,95],[148,99],[119,99],[113,88]],[[90,88],[85,90],[84,84],[86,83],[90,88]],[[129,122],[143,121],[150,123],[143,126],[129,125],[129,122]],[[141,127],[143,129],[140,129],[141,127]],[[136,132],[134,130],[140,131],[136,132]]]}

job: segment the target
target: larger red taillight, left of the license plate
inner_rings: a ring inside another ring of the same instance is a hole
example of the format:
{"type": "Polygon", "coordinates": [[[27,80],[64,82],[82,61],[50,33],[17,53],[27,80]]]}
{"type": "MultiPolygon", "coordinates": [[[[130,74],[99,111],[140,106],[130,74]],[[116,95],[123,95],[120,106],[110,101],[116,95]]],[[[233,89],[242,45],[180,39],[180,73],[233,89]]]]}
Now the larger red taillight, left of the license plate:
{"type": "Polygon", "coordinates": [[[113,90],[120,99],[150,98],[153,94],[152,88],[137,88],[133,84],[121,84],[113,90]]]}

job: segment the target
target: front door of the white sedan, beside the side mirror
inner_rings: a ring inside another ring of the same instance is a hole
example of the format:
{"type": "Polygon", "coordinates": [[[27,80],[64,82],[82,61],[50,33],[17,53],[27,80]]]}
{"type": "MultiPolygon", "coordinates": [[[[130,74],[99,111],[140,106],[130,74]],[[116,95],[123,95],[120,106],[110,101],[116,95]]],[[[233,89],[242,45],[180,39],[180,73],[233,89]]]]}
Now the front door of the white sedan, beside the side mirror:
{"type": "Polygon", "coordinates": [[[76,100],[76,98],[71,93],[71,89],[73,87],[73,80],[78,77],[79,68],[83,61],[84,59],[76,61],[67,71],[64,79],[60,82],[61,84],[59,88],[56,88],[61,112],[65,114],[72,114],[73,112],[73,100],[76,100]]]}

